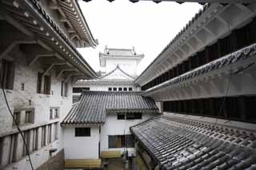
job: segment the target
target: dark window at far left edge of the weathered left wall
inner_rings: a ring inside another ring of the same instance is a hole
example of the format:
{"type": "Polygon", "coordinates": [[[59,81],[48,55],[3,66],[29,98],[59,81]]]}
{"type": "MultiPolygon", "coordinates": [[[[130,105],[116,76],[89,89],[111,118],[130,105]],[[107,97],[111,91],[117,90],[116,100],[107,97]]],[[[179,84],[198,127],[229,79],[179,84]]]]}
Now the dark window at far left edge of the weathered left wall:
{"type": "Polygon", "coordinates": [[[14,63],[2,59],[0,66],[0,71],[2,75],[2,77],[0,78],[3,85],[0,85],[0,87],[2,86],[2,89],[14,89],[14,63]]]}

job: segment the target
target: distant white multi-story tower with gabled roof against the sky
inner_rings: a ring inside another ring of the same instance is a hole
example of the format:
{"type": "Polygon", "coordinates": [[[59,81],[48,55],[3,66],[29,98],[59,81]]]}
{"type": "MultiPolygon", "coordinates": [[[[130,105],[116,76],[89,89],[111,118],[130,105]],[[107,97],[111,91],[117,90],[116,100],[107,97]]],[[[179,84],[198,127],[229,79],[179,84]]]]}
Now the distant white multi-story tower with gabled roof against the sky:
{"type": "Polygon", "coordinates": [[[79,80],[74,84],[74,102],[78,101],[82,90],[92,91],[140,91],[140,86],[134,83],[137,67],[144,54],[137,54],[135,49],[105,48],[99,53],[99,61],[105,70],[99,78],[79,80]]]}

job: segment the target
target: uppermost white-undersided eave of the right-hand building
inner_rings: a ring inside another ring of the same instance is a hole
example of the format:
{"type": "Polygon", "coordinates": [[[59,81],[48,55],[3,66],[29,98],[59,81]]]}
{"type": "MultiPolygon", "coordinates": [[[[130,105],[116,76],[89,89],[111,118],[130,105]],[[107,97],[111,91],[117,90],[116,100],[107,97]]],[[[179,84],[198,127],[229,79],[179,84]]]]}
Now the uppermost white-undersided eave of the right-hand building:
{"type": "Polygon", "coordinates": [[[202,51],[207,45],[211,45],[230,34],[254,18],[256,8],[244,4],[211,4],[199,10],[194,18],[166,45],[166,48],[158,54],[158,57],[135,80],[139,85],[174,68],[188,57],[202,51]]]}

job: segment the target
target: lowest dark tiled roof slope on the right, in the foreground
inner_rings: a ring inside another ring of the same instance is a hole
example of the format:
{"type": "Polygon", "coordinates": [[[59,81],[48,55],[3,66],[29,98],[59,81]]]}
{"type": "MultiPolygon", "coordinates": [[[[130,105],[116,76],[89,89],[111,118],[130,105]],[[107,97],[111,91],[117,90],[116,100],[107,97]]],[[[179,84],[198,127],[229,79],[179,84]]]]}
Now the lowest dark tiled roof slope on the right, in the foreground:
{"type": "Polygon", "coordinates": [[[255,169],[255,132],[154,117],[130,128],[162,169],[255,169]]]}

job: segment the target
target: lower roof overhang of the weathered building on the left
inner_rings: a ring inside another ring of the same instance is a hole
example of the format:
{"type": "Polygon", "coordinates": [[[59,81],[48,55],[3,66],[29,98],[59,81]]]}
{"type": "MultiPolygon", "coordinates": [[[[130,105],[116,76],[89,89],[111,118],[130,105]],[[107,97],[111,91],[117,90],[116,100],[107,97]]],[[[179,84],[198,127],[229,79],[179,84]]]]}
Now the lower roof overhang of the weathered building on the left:
{"type": "MultiPolygon", "coordinates": [[[[46,13],[38,1],[2,0],[0,4],[3,7],[1,13],[4,14],[7,22],[11,22],[23,34],[26,34],[27,39],[32,39],[47,51],[54,53],[53,55],[60,61],[65,61],[68,67],[72,67],[72,70],[62,69],[62,72],[70,71],[68,77],[83,77],[86,79],[97,77],[94,69],[78,53],[74,45],[66,38],[66,35],[58,28],[57,24],[50,18],[50,15],[46,13]]],[[[24,44],[26,42],[26,40],[21,41],[19,39],[14,41],[16,44],[24,44]]],[[[9,47],[12,46],[14,45],[9,45],[9,47]]],[[[35,53],[35,55],[38,55],[38,53],[35,53]]],[[[42,55],[36,56],[33,62],[37,61],[40,57],[42,55]]]]}

